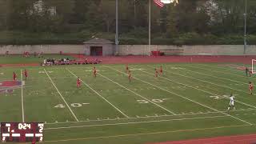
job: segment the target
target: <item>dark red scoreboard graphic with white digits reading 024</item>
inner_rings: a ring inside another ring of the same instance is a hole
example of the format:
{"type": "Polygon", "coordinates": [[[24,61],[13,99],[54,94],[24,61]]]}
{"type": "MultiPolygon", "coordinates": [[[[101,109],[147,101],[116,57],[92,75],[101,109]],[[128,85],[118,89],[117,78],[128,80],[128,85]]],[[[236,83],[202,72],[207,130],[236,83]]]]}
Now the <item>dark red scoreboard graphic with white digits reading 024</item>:
{"type": "Polygon", "coordinates": [[[1,142],[42,142],[43,122],[1,122],[1,142]]]}

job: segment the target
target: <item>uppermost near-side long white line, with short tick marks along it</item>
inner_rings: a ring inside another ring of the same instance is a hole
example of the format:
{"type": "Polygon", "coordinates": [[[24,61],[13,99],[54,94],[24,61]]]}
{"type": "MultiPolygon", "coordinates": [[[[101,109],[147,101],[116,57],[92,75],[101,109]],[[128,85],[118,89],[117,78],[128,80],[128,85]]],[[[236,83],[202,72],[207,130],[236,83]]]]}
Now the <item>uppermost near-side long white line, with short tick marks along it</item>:
{"type": "MultiPolygon", "coordinates": [[[[256,109],[250,109],[250,110],[230,110],[230,112],[238,112],[238,111],[252,111],[252,110],[256,110],[256,109]]],[[[226,113],[227,111],[221,111],[223,113],[226,113]]],[[[150,116],[148,115],[147,117],[146,116],[140,116],[139,118],[110,118],[110,119],[94,119],[94,120],[87,120],[87,121],[79,121],[79,122],[52,122],[52,123],[45,123],[46,125],[58,125],[58,124],[65,124],[65,123],[81,123],[81,122],[104,122],[104,121],[118,121],[118,120],[130,120],[130,119],[146,119],[146,118],[166,118],[166,117],[172,117],[172,116],[186,116],[186,115],[202,115],[202,114],[218,114],[219,112],[205,112],[205,113],[200,113],[200,112],[194,112],[193,114],[166,114],[166,115],[153,115],[153,116],[150,116]]]]}

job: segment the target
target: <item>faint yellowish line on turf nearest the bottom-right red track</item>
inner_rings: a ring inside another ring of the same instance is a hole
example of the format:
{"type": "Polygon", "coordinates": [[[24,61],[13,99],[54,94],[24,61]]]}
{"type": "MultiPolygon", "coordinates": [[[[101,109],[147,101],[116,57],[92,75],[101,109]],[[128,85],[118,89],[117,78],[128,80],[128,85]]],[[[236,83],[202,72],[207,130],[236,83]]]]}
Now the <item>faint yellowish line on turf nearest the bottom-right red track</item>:
{"type": "Polygon", "coordinates": [[[151,134],[168,134],[168,133],[180,133],[180,132],[193,132],[199,130],[218,130],[218,129],[225,129],[225,128],[232,128],[232,127],[244,127],[250,125],[234,125],[234,126],[215,126],[215,127],[208,127],[208,128],[201,128],[201,129],[188,129],[188,130],[169,130],[169,131],[158,131],[158,132],[149,132],[149,133],[138,133],[138,134],[122,134],[122,135],[110,135],[110,136],[102,136],[102,137],[88,137],[88,138],[72,138],[72,139],[62,139],[56,141],[45,141],[47,142],[68,142],[68,141],[81,141],[87,139],[100,139],[100,138],[120,138],[120,137],[131,137],[131,136],[141,136],[141,135],[151,135],[151,134]]]}

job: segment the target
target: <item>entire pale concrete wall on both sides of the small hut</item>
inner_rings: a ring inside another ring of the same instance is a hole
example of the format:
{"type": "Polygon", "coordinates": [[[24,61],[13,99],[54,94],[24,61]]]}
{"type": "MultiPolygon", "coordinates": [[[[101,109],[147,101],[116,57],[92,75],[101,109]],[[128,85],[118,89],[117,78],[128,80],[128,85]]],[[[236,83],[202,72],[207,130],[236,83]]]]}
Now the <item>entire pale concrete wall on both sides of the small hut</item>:
{"type": "MultiPolygon", "coordinates": [[[[211,54],[211,55],[242,55],[242,45],[208,45],[208,46],[151,46],[151,50],[170,50],[182,49],[183,55],[198,55],[198,54],[211,54]]],[[[5,54],[6,51],[10,54],[23,54],[24,51],[43,52],[44,54],[59,54],[59,51],[69,54],[88,54],[88,49],[84,45],[26,45],[26,46],[0,46],[0,54],[5,54]]],[[[118,55],[143,55],[148,54],[147,45],[120,45],[118,46],[118,55]]],[[[107,49],[104,52],[106,55],[113,54],[113,50],[107,49]]],[[[256,46],[247,46],[246,54],[256,55],[256,46]]]]}

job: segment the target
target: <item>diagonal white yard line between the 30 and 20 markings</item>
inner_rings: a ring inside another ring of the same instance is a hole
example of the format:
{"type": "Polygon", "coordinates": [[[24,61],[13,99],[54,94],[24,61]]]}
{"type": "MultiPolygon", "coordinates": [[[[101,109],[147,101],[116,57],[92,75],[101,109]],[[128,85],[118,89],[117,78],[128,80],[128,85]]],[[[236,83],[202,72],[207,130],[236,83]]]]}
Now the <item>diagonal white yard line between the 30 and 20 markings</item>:
{"type": "MultiPolygon", "coordinates": [[[[115,70],[115,69],[111,68],[110,66],[106,66],[106,67],[109,67],[111,70],[115,70]]],[[[118,71],[119,73],[122,73],[122,72],[119,71],[119,70],[115,70],[115,71],[118,71]]],[[[125,74],[125,73],[122,73],[122,74],[125,74]]],[[[133,77],[133,78],[135,78],[135,77],[133,77]]],[[[135,78],[135,79],[137,79],[137,80],[139,80],[139,81],[141,81],[141,82],[145,82],[145,81],[143,81],[143,80],[141,80],[141,79],[139,79],[139,78],[135,78]]],[[[186,99],[186,100],[189,100],[190,102],[197,103],[198,105],[204,106],[204,107],[206,107],[206,108],[208,108],[208,109],[210,109],[210,110],[218,111],[219,113],[228,115],[228,116],[230,116],[230,117],[232,117],[232,118],[235,118],[235,119],[237,119],[237,120],[239,120],[239,121],[241,121],[241,122],[245,122],[245,123],[247,123],[247,124],[249,124],[249,125],[253,125],[253,124],[251,124],[250,122],[246,122],[245,120],[242,120],[242,119],[240,119],[240,118],[234,117],[234,116],[232,116],[232,115],[230,115],[230,114],[223,113],[223,112],[221,112],[221,111],[219,111],[219,110],[216,110],[216,109],[214,109],[214,108],[212,108],[212,107],[210,107],[210,106],[206,106],[206,105],[204,105],[204,104],[202,104],[202,103],[195,102],[194,100],[192,100],[192,99],[190,99],[190,98],[183,97],[183,96],[180,95],[180,94],[175,94],[174,92],[170,92],[169,90],[163,89],[162,87],[155,86],[154,84],[152,84],[152,83],[150,83],[150,82],[145,82],[145,83],[147,83],[147,84],[149,84],[149,85],[151,85],[151,86],[157,87],[157,88],[160,89],[160,90],[164,90],[164,91],[166,91],[166,92],[168,92],[168,93],[170,93],[170,94],[177,95],[177,96],[180,97],[180,98],[184,98],[184,99],[186,99]]]]}

